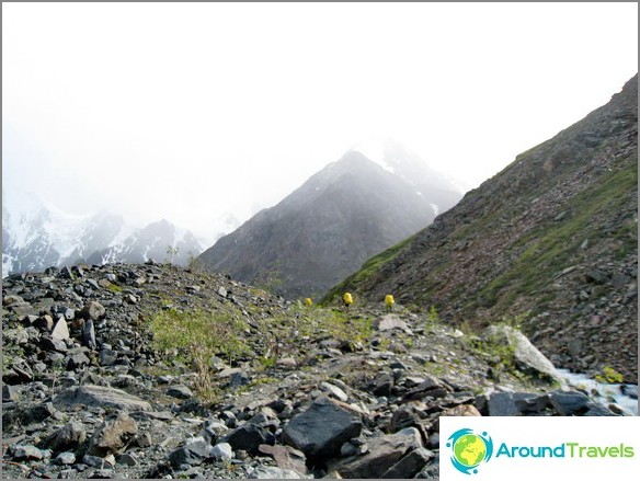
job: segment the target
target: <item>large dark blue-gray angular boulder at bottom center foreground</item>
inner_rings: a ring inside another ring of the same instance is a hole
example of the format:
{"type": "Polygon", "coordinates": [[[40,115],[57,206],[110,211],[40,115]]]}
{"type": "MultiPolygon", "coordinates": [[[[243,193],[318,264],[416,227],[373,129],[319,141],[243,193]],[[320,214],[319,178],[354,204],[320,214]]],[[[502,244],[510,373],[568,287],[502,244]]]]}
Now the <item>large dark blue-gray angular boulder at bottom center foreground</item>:
{"type": "Polygon", "coordinates": [[[282,437],[308,457],[331,457],[340,453],[344,443],[357,437],[362,427],[359,417],[328,398],[319,398],[286,424],[282,437]]]}

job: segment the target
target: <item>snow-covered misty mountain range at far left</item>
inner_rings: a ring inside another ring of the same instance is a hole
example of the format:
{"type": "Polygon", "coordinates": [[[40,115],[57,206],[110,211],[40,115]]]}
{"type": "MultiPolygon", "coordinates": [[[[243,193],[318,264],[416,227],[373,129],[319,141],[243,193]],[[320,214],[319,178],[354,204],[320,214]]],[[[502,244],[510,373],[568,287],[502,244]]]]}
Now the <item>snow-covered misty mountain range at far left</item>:
{"type": "MultiPolygon", "coordinates": [[[[4,199],[3,199],[4,201],[4,199]]],[[[202,248],[191,231],[167,220],[134,228],[122,216],[105,211],[70,216],[35,195],[19,195],[12,210],[2,204],[2,276],[38,272],[79,262],[141,263],[169,259],[186,265],[202,248]]]]}

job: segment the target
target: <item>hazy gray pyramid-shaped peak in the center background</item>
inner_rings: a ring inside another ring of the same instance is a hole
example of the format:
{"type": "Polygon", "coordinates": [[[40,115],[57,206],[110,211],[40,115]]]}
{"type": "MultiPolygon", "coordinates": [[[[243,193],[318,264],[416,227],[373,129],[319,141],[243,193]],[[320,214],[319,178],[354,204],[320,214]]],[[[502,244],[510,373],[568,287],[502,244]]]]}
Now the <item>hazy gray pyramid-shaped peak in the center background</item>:
{"type": "MultiPolygon", "coordinates": [[[[400,157],[395,162],[400,165],[400,157]]],[[[444,181],[434,192],[427,186],[428,179],[418,173],[409,181],[352,150],[219,239],[199,260],[286,297],[321,295],[460,196],[444,181]]]]}

